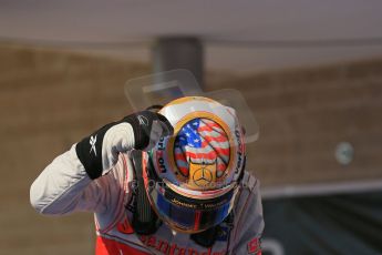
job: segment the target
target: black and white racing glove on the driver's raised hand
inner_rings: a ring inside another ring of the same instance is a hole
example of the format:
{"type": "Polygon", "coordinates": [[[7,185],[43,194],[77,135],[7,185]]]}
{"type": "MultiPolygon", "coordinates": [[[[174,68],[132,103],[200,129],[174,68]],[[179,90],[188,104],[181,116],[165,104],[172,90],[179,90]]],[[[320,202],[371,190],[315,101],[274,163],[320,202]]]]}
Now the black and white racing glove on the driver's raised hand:
{"type": "Polygon", "coordinates": [[[105,174],[117,162],[120,152],[149,150],[174,129],[159,113],[142,111],[104,125],[84,137],[75,152],[91,178],[105,174]]]}

